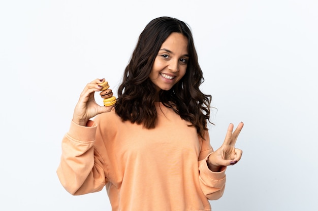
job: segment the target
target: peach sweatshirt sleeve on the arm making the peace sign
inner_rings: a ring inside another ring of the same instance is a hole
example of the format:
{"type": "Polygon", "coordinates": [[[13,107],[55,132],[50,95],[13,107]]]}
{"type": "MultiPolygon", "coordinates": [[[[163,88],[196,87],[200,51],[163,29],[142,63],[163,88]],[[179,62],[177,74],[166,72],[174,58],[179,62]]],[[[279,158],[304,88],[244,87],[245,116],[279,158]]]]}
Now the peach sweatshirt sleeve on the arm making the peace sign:
{"type": "Polygon", "coordinates": [[[219,199],[225,190],[226,167],[221,172],[212,172],[207,164],[209,155],[213,153],[210,145],[209,133],[206,131],[205,140],[202,140],[201,152],[199,155],[199,182],[201,189],[209,200],[219,199]]]}

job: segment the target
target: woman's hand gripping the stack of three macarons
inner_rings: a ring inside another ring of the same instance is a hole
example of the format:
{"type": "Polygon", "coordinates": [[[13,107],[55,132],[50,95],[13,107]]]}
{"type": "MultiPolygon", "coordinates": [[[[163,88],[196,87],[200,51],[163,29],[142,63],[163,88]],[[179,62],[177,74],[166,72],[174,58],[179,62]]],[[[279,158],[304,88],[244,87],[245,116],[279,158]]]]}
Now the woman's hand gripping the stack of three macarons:
{"type": "Polygon", "coordinates": [[[85,126],[90,118],[111,111],[113,106],[100,106],[94,99],[94,93],[100,92],[102,89],[99,83],[104,81],[105,79],[95,79],[87,83],[74,109],[73,121],[75,123],[85,126]]]}

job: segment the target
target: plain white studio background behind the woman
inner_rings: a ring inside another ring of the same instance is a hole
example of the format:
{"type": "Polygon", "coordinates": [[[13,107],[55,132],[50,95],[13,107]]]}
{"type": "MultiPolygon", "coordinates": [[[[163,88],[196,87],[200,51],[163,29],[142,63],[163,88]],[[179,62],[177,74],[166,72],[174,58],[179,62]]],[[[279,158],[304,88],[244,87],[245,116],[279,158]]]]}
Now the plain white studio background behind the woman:
{"type": "Polygon", "coordinates": [[[317,210],[317,11],[315,0],[1,1],[0,209],[111,209],[105,189],[62,188],[60,142],[86,83],[116,91],[145,25],[172,16],[193,30],[218,109],[212,146],[245,123],[212,209],[317,210]]]}

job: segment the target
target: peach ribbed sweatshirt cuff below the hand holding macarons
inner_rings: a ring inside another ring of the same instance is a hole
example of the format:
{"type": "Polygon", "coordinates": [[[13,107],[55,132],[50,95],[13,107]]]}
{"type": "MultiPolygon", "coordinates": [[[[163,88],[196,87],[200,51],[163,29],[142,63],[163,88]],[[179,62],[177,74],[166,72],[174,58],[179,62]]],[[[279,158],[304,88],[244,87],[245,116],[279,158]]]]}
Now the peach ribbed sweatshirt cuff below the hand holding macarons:
{"type": "Polygon", "coordinates": [[[81,126],[79,124],[76,124],[74,121],[71,121],[68,135],[73,139],[81,142],[94,141],[96,137],[97,123],[92,120],[89,121],[90,122],[88,124],[91,126],[81,126]]]}

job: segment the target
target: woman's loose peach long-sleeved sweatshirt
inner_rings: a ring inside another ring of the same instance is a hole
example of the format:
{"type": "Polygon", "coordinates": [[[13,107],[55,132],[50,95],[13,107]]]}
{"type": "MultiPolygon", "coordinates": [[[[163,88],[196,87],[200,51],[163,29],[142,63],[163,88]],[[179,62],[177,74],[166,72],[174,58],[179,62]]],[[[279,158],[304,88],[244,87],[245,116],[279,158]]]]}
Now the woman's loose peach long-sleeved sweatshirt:
{"type": "Polygon", "coordinates": [[[113,211],[211,210],[208,199],[222,196],[226,177],[207,166],[208,132],[202,140],[172,109],[156,108],[150,130],[123,122],[114,109],[91,126],[71,122],[57,168],[62,186],[73,195],[106,186],[113,211]]]}

